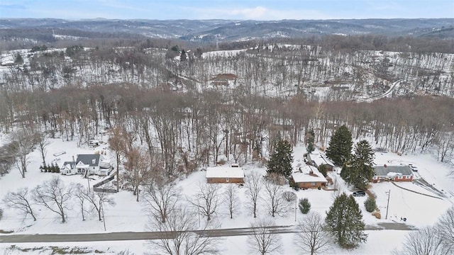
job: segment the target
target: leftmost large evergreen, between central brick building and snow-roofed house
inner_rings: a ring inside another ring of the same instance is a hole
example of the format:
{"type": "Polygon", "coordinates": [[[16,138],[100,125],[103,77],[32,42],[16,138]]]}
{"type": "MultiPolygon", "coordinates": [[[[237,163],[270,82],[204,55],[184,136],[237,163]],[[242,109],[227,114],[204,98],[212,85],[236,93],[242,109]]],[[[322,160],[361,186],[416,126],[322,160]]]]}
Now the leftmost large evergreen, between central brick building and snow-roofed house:
{"type": "Polygon", "coordinates": [[[293,148],[287,140],[277,140],[267,164],[267,174],[276,173],[289,179],[292,175],[293,148]]]}

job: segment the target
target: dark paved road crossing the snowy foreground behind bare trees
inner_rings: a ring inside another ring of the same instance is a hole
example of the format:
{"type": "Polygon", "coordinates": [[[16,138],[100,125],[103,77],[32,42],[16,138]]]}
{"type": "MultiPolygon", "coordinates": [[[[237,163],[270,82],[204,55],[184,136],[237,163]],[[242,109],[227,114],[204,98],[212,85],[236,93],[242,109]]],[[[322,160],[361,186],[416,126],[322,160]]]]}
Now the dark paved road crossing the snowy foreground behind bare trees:
{"type": "MultiPolygon", "coordinates": [[[[268,227],[275,234],[294,233],[294,226],[268,227]]],[[[382,222],[378,226],[368,225],[366,230],[414,230],[414,228],[399,222],[382,222]]],[[[253,228],[233,229],[210,229],[194,230],[196,234],[209,235],[211,237],[232,237],[253,234],[253,228]]],[[[163,239],[175,236],[176,232],[114,232],[96,234],[1,234],[0,243],[27,243],[27,242],[98,242],[98,241],[127,241],[127,240],[150,240],[163,239]]]]}

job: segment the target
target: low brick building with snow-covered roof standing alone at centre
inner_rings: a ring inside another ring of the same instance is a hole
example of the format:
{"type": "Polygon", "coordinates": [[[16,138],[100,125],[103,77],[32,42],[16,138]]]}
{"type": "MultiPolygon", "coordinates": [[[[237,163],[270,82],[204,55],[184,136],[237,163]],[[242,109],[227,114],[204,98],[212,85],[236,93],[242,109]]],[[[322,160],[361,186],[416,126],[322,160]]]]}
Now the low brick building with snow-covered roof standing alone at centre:
{"type": "Polygon", "coordinates": [[[216,166],[206,168],[207,183],[244,183],[243,168],[216,166]]]}

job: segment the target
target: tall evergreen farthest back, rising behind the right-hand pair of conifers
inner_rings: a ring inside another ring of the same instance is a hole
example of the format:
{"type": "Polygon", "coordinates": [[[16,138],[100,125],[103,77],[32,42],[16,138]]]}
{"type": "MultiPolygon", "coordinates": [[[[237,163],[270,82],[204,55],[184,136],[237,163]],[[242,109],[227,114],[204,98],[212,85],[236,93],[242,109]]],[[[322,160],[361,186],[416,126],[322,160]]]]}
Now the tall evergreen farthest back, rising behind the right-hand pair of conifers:
{"type": "Polygon", "coordinates": [[[350,159],[352,146],[352,133],[345,125],[342,125],[331,137],[329,147],[326,149],[326,156],[338,166],[342,166],[350,159]]]}

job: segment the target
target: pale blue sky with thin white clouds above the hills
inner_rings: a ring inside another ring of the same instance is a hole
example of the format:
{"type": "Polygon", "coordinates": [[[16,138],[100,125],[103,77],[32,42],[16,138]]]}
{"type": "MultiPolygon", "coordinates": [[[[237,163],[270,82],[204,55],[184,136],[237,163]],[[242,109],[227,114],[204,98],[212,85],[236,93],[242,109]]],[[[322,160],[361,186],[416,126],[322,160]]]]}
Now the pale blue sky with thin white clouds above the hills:
{"type": "Polygon", "coordinates": [[[0,0],[0,18],[454,18],[454,0],[0,0]]]}

